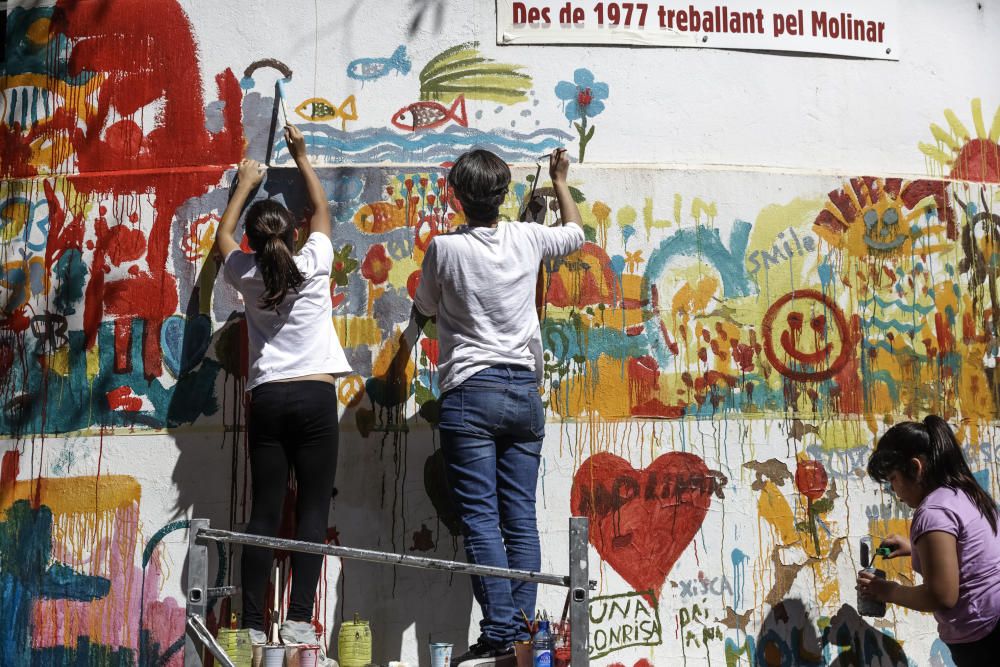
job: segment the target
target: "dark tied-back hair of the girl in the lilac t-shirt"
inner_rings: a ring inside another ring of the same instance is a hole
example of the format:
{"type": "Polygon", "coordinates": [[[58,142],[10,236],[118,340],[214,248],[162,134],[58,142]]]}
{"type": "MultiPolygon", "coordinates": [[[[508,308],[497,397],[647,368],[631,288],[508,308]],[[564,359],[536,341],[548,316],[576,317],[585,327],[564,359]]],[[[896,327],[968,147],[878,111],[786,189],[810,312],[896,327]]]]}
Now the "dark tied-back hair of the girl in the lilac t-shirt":
{"type": "Polygon", "coordinates": [[[878,482],[888,480],[894,471],[916,479],[914,458],[922,458],[926,464],[926,472],[920,481],[928,491],[941,486],[965,491],[996,534],[996,503],[972,476],[948,422],[937,415],[927,415],[923,423],[896,424],[875,445],[875,451],[868,459],[868,474],[878,482]]]}

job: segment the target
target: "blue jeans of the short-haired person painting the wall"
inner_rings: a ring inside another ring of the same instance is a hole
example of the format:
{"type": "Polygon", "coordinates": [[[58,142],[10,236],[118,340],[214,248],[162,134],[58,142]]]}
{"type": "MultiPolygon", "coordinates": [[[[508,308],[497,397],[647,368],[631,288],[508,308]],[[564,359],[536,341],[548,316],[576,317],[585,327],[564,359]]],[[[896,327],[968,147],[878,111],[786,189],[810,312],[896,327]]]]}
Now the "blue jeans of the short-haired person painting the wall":
{"type": "MultiPolygon", "coordinates": [[[[441,397],[441,450],[462,516],[469,562],[541,567],[535,487],[545,413],[534,370],[492,366],[441,397]]],[[[498,647],[528,639],[537,584],[472,577],[483,610],[480,640],[498,647]]]]}

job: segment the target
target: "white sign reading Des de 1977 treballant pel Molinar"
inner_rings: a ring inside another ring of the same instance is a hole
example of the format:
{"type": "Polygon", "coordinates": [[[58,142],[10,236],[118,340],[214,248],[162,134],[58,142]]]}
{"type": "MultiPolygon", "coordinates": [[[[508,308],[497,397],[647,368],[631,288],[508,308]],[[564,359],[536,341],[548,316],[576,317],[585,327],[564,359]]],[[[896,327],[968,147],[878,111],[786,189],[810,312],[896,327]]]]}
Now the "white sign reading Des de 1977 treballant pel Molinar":
{"type": "Polygon", "coordinates": [[[897,0],[497,0],[497,44],[625,44],[899,59],[897,0]]]}

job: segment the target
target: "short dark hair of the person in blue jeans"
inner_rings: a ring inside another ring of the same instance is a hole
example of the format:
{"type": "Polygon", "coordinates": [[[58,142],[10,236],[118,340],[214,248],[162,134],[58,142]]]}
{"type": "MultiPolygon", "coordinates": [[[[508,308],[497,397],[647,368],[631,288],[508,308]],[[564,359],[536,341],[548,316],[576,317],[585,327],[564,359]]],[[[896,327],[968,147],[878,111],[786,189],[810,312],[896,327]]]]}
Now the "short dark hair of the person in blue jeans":
{"type": "Polygon", "coordinates": [[[455,190],[470,224],[490,224],[500,217],[510,185],[510,167],[487,150],[469,151],[455,161],[448,185],[455,190]]]}

